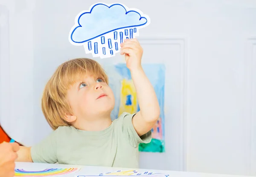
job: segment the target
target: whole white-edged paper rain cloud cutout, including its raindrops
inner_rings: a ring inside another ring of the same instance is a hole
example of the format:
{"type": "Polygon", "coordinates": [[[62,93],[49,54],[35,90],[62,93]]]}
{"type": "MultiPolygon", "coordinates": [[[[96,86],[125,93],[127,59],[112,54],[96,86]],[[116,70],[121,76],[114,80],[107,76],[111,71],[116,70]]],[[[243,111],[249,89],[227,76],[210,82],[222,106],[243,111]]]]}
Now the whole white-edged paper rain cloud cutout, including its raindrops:
{"type": "Polygon", "coordinates": [[[119,3],[96,3],[76,16],[69,41],[84,46],[85,52],[93,57],[113,57],[125,39],[139,36],[139,29],[149,23],[150,18],[138,9],[128,9],[119,3]]]}

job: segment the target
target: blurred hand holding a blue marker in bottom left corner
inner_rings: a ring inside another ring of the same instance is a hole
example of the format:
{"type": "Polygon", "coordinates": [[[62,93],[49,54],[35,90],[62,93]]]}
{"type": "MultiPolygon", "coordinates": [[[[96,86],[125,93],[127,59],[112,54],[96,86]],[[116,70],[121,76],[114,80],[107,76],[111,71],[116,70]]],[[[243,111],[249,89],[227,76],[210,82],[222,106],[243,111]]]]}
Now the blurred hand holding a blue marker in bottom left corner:
{"type": "Polygon", "coordinates": [[[0,144],[0,177],[13,177],[15,174],[15,160],[20,146],[17,143],[0,144]]]}

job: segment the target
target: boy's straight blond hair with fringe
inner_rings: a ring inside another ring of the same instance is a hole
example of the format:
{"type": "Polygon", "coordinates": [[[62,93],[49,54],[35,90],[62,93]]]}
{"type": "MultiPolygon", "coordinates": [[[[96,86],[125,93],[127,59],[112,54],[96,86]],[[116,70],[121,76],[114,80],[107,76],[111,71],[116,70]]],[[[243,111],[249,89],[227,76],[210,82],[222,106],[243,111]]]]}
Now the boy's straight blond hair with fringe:
{"type": "Polygon", "coordinates": [[[99,63],[88,58],[76,58],[62,63],[47,82],[42,97],[42,111],[52,129],[55,130],[58,126],[71,126],[64,119],[65,114],[72,114],[67,100],[67,90],[74,83],[83,80],[88,73],[96,79],[103,78],[108,84],[108,76],[99,63]]]}

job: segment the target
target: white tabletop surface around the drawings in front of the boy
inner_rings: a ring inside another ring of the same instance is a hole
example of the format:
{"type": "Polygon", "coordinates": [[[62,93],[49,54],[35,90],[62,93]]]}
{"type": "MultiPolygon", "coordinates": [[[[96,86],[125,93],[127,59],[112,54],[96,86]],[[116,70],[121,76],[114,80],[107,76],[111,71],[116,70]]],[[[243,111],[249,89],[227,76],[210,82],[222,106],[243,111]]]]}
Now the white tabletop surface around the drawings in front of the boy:
{"type": "MultiPolygon", "coordinates": [[[[100,173],[114,172],[117,170],[121,170],[121,171],[131,170],[130,168],[73,166],[73,165],[61,165],[61,164],[24,163],[24,162],[16,162],[15,168],[33,169],[33,170],[42,170],[46,168],[81,168],[81,170],[76,173],[60,175],[60,177],[76,177],[76,175],[99,175],[100,173]]],[[[137,170],[142,172],[151,171],[151,172],[169,174],[169,177],[245,177],[245,176],[238,176],[238,175],[206,174],[206,173],[195,173],[195,172],[184,172],[184,171],[162,171],[162,170],[149,170],[149,169],[132,169],[132,170],[137,170]]]]}

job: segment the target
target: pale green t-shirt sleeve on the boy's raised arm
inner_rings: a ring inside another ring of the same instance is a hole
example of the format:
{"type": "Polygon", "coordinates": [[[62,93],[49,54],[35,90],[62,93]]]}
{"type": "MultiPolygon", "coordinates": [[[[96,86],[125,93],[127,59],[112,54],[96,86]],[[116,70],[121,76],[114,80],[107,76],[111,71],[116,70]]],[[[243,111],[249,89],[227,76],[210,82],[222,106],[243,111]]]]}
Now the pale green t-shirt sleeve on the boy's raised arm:
{"type": "MultiPolygon", "coordinates": [[[[136,114],[136,113],[135,113],[136,114]]],[[[131,146],[137,147],[140,143],[150,143],[152,134],[151,130],[146,134],[139,136],[132,124],[132,118],[135,114],[129,114],[124,112],[120,115],[119,121],[122,122],[122,133],[130,141],[131,146]]]]}

